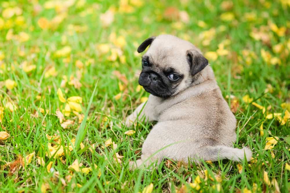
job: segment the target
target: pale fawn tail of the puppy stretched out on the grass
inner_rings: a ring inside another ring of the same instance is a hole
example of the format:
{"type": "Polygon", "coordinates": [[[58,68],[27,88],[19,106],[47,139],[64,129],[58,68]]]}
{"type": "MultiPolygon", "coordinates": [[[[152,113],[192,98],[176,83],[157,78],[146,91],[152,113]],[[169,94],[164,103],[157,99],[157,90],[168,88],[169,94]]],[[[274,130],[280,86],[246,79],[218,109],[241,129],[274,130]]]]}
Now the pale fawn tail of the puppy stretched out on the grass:
{"type": "Polygon", "coordinates": [[[197,155],[204,160],[211,161],[218,161],[219,159],[242,161],[245,158],[250,161],[252,152],[247,147],[239,149],[228,146],[203,146],[199,148],[197,155]]]}

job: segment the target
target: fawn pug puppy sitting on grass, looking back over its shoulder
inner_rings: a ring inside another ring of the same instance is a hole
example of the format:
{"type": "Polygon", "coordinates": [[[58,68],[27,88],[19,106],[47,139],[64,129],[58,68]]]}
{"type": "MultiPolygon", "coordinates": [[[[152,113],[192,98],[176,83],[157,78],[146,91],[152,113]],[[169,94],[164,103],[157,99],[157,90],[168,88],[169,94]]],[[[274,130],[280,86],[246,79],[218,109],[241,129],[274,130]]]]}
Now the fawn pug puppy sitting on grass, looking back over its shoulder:
{"type": "Polygon", "coordinates": [[[142,146],[141,159],[130,168],[147,167],[164,158],[199,162],[231,159],[250,161],[249,148],[233,148],[236,119],[215,81],[212,68],[201,51],[172,35],[146,39],[139,84],[151,93],[126,118],[130,127],[139,117],[157,121],[142,146]]]}

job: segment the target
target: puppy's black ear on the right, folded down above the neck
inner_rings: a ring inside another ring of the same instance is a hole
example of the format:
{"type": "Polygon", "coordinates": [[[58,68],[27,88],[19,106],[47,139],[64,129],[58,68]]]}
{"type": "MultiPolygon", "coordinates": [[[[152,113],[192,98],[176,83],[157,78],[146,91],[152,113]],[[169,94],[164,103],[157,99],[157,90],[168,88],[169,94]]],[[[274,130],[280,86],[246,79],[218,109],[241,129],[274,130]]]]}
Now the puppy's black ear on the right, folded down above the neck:
{"type": "Polygon", "coordinates": [[[202,54],[193,50],[187,51],[187,61],[190,65],[192,76],[202,71],[202,69],[204,69],[204,67],[209,64],[209,62],[206,60],[206,58],[204,58],[204,56],[202,56],[202,54]]]}

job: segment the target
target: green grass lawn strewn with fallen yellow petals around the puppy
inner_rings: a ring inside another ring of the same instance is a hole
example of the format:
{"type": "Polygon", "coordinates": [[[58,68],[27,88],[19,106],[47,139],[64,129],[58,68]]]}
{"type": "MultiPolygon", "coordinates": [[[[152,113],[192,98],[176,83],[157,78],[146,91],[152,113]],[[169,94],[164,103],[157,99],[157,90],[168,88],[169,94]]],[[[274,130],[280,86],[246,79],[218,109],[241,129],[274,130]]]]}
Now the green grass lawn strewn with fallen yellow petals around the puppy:
{"type": "Polygon", "coordinates": [[[0,192],[289,192],[289,18],[287,0],[1,1],[0,192]],[[209,60],[251,162],[129,170],[152,128],[123,124],[148,97],[137,47],[164,33],[209,60]]]}

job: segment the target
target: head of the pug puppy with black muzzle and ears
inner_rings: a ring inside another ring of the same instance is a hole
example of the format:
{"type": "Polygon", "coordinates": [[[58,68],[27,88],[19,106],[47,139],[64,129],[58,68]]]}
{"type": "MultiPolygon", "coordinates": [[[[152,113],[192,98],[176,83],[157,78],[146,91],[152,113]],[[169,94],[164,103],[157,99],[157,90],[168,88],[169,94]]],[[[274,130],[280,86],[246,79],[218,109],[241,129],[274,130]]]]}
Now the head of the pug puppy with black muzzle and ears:
{"type": "Polygon", "coordinates": [[[146,39],[138,52],[142,56],[139,84],[158,97],[168,98],[190,87],[208,65],[199,49],[188,41],[171,35],[146,39]]]}

